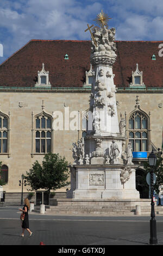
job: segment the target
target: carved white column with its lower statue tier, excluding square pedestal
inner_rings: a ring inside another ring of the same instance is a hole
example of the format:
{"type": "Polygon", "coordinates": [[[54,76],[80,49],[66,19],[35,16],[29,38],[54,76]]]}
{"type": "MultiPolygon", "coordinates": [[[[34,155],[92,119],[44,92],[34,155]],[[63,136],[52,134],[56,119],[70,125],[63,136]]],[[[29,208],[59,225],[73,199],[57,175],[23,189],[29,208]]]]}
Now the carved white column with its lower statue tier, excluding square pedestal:
{"type": "Polygon", "coordinates": [[[121,135],[118,124],[115,75],[112,72],[117,57],[114,36],[115,29],[108,29],[105,26],[95,28],[93,32],[94,40],[92,39],[90,60],[95,78],[91,88],[87,137],[85,138],[85,152],[93,157],[92,164],[96,162],[103,164],[106,156],[110,157],[111,163],[122,163],[122,137],[124,136],[121,135]],[[97,138],[102,140],[101,152],[103,151],[103,154],[101,156],[95,154],[97,138]],[[116,154],[112,154],[115,146],[116,154]],[[103,158],[100,160],[99,157],[103,158]]]}

